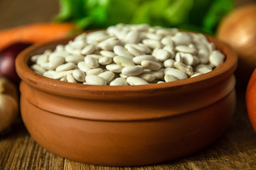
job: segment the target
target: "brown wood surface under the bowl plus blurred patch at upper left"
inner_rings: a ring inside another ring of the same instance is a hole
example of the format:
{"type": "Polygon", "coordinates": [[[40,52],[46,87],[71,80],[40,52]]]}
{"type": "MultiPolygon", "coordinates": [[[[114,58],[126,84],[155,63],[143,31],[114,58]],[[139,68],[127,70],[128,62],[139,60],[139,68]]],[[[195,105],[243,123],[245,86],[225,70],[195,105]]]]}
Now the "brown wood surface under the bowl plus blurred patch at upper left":
{"type": "MultiPolygon", "coordinates": [[[[50,21],[58,13],[58,1],[1,0],[0,29],[26,23],[50,21]],[[29,4],[26,5],[26,4],[29,4]],[[28,12],[30,11],[30,12],[28,12]]],[[[1,39],[1,38],[0,38],[1,39]]],[[[245,106],[245,86],[236,86],[237,106],[228,129],[212,145],[188,157],[136,167],[93,166],[73,162],[39,146],[21,120],[8,134],[0,136],[2,169],[256,169],[256,132],[245,106]]],[[[156,155],[157,157],[157,155],[156,155]]]]}

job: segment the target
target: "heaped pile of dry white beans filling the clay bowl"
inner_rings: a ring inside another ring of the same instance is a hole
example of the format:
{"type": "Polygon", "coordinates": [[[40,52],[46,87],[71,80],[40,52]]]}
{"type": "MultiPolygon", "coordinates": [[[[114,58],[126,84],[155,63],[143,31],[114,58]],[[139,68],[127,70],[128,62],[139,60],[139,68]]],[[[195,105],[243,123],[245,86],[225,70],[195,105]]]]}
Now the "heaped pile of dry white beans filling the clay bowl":
{"type": "Polygon", "coordinates": [[[31,57],[31,69],[51,79],[94,85],[142,85],[196,77],[225,56],[199,33],[148,24],[82,33],[67,45],[31,57]]]}

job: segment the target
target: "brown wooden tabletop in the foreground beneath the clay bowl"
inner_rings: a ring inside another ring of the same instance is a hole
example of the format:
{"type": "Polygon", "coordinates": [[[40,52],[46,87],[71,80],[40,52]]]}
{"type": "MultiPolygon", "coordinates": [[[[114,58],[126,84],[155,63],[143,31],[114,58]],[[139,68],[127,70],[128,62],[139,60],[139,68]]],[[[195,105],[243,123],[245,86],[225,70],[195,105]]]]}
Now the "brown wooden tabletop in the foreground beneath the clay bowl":
{"type": "MultiPolygon", "coordinates": [[[[80,164],[52,154],[39,146],[19,121],[0,137],[0,169],[256,169],[256,132],[245,107],[245,88],[237,87],[237,108],[226,132],[212,145],[183,159],[139,167],[80,164]]],[[[157,157],[157,155],[156,155],[157,157]]]]}

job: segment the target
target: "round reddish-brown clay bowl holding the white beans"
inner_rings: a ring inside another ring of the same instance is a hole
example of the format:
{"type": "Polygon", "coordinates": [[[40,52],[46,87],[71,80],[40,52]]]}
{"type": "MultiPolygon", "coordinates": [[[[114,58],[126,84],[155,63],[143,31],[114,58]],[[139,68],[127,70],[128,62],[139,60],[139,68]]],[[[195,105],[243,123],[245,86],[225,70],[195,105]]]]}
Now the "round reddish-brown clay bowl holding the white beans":
{"type": "Polygon", "coordinates": [[[86,164],[138,166],[198,152],[218,139],[235,110],[235,52],[208,37],[226,60],[198,77],[164,84],[95,86],[36,74],[30,57],[70,38],[33,45],[16,59],[21,115],[49,152],[86,164]]]}

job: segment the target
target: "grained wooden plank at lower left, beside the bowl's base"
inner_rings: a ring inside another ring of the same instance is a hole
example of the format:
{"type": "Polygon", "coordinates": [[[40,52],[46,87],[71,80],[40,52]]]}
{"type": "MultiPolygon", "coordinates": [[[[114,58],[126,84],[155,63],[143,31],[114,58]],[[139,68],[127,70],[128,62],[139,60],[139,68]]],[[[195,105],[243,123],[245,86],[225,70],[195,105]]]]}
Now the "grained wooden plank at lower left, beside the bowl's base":
{"type": "Polygon", "coordinates": [[[64,159],[47,152],[18,123],[0,140],[0,169],[63,169],[64,159]]]}

